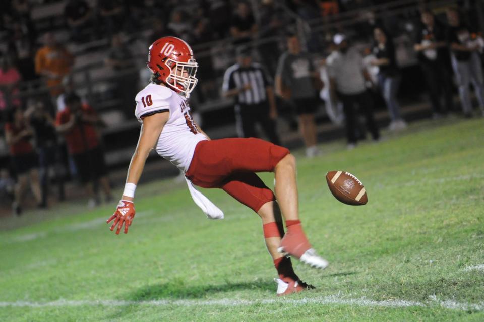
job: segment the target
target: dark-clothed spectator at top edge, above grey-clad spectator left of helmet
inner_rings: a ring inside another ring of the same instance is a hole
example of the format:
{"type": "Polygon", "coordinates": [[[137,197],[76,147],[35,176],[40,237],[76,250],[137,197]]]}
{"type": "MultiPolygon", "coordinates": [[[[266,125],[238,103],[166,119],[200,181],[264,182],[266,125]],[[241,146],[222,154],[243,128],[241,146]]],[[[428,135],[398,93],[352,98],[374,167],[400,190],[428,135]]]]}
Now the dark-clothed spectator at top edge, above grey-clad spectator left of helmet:
{"type": "Polygon", "coordinates": [[[111,36],[123,30],[125,7],[123,0],[98,0],[100,23],[107,35],[111,36]]]}

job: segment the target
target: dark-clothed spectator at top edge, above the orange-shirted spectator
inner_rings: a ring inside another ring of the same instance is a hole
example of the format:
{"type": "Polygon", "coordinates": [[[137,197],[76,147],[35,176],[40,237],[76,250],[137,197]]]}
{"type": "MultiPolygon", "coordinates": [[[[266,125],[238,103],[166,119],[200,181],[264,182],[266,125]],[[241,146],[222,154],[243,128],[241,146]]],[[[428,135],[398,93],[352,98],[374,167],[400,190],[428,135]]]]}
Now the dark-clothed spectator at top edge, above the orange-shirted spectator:
{"type": "Polygon", "coordinates": [[[71,29],[71,40],[86,41],[86,29],[92,25],[91,9],[85,0],[68,0],[64,17],[71,29]]]}

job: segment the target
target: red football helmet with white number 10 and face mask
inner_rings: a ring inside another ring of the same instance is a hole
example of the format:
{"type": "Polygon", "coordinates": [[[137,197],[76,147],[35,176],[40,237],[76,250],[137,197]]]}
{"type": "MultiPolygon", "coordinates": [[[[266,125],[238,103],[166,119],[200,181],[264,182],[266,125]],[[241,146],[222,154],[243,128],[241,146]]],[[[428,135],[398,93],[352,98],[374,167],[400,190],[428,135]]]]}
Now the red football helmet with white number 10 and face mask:
{"type": "Polygon", "coordinates": [[[149,48],[148,68],[154,77],[177,93],[190,96],[198,79],[195,77],[198,64],[193,58],[192,48],[176,37],[163,37],[149,48]]]}

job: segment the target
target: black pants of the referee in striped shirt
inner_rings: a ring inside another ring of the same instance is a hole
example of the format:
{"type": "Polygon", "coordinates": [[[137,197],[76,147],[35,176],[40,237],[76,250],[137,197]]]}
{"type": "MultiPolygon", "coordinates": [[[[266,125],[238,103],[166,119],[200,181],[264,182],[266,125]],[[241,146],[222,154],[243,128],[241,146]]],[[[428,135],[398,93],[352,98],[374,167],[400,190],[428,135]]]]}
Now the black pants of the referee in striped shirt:
{"type": "Polygon", "coordinates": [[[267,102],[254,105],[236,105],[235,120],[239,137],[257,138],[256,123],[259,123],[269,141],[280,145],[279,136],[276,133],[276,122],[269,117],[269,104],[267,102]]]}

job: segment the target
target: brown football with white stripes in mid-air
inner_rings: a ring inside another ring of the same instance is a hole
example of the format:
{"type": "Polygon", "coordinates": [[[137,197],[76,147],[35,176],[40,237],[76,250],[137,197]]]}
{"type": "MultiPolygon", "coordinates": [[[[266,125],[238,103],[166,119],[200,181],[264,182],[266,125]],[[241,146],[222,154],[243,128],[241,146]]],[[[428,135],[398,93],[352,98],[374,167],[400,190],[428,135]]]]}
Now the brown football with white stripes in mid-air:
{"type": "Polygon", "coordinates": [[[367,191],[357,177],[345,171],[329,171],[326,181],[333,196],[340,202],[359,206],[368,202],[367,191]]]}

